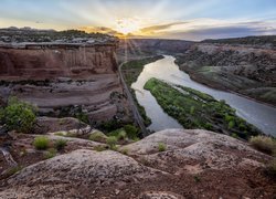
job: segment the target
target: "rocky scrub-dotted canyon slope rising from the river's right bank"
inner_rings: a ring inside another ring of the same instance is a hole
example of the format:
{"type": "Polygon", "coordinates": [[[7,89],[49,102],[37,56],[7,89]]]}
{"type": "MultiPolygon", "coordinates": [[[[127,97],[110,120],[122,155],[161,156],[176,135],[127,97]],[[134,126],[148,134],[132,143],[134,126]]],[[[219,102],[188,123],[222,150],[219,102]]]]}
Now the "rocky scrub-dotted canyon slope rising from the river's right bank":
{"type": "Polygon", "coordinates": [[[275,49],[197,43],[177,62],[195,81],[276,105],[275,49]]]}

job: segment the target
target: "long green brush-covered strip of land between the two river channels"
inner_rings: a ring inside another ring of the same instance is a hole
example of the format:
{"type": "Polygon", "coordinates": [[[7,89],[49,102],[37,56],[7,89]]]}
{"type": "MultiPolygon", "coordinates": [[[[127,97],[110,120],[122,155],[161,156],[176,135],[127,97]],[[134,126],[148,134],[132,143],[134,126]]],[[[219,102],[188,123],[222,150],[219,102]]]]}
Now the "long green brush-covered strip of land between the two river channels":
{"type": "Polygon", "coordinates": [[[150,78],[145,88],[150,91],[162,109],[187,129],[208,129],[248,139],[261,132],[235,114],[225,101],[215,101],[199,91],[150,78]]]}

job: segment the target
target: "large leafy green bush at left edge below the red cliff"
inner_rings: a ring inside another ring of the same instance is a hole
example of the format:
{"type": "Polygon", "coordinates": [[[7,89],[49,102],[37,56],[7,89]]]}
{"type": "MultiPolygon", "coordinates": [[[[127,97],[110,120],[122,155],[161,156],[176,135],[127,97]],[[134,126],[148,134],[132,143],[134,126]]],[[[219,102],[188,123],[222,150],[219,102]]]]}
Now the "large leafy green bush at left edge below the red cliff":
{"type": "Polygon", "coordinates": [[[29,133],[36,119],[36,108],[15,97],[9,98],[8,106],[0,111],[0,121],[7,124],[9,130],[29,133]]]}

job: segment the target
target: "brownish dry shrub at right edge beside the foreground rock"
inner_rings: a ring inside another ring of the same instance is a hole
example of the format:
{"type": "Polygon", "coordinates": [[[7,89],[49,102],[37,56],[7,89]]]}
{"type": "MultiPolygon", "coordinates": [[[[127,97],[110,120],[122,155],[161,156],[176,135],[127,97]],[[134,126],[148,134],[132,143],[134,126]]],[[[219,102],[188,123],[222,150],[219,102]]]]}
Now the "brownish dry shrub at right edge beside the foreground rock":
{"type": "Polygon", "coordinates": [[[273,155],[276,153],[276,142],[270,137],[267,136],[252,137],[250,139],[250,144],[257,150],[261,150],[268,155],[273,155]]]}

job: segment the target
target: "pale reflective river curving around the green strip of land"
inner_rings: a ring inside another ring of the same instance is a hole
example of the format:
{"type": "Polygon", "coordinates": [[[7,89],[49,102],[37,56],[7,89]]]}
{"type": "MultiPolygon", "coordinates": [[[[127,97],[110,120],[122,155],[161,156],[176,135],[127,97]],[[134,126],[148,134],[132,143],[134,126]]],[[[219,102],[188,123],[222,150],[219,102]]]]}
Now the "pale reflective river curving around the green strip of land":
{"type": "Polygon", "coordinates": [[[182,128],[174,118],[162,111],[150,92],[144,90],[144,85],[149,78],[157,77],[173,84],[198,90],[216,100],[224,100],[236,109],[236,114],[240,117],[255,125],[265,134],[276,137],[276,108],[194,82],[187,73],[179,70],[174,60],[173,56],[166,55],[162,60],[145,65],[137,82],[131,85],[136,91],[136,97],[139,104],[145,107],[148,117],[152,121],[152,124],[148,127],[150,130],[158,132],[166,128],[182,128]]]}

